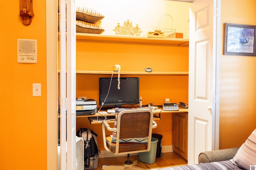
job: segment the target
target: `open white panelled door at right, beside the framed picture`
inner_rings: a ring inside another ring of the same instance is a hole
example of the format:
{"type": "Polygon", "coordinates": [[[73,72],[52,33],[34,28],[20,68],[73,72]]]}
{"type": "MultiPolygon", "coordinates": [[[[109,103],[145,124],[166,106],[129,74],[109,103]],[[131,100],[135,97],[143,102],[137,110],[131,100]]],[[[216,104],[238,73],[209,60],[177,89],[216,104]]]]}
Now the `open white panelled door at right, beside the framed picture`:
{"type": "Polygon", "coordinates": [[[214,149],[216,2],[196,0],[190,6],[188,164],[214,149]]]}

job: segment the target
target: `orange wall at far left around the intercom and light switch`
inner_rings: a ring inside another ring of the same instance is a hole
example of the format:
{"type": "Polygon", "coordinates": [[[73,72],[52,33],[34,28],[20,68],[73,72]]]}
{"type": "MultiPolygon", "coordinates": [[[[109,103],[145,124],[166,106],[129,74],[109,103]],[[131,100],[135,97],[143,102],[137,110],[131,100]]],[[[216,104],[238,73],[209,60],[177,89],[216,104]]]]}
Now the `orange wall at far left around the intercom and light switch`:
{"type": "Polygon", "coordinates": [[[33,1],[34,18],[22,25],[19,1],[0,5],[0,169],[46,170],[46,1],[33,1]],[[37,39],[38,63],[17,63],[17,39],[37,39]],[[32,97],[32,84],[42,96],[32,97]]]}

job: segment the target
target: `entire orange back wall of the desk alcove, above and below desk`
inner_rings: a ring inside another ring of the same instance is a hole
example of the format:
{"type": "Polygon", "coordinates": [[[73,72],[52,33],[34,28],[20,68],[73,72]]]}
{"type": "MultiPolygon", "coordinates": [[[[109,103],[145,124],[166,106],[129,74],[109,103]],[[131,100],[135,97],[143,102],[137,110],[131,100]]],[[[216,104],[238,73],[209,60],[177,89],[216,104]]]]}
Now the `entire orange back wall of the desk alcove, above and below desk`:
{"type": "MultiPolygon", "coordinates": [[[[112,71],[114,64],[120,64],[121,71],[188,71],[188,47],[162,47],[152,45],[124,45],[108,43],[76,43],[76,69],[112,71]]],[[[76,96],[93,98],[98,103],[98,78],[107,74],[78,74],[76,96]]],[[[114,75],[115,77],[117,75],[114,75]]],[[[170,75],[121,75],[140,78],[140,96],[143,105],[162,105],[164,98],[171,102],[188,103],[188,76],[170,75]]],[[[162,145],[172,145],[172,114],[162,114],[153,133],[163,135],[162,145]]],[[[104,150],[100,125],[90,125],[88,119],[76,119],[77,130],[90,128],[98,134],[100,149],[104,150]]]]}

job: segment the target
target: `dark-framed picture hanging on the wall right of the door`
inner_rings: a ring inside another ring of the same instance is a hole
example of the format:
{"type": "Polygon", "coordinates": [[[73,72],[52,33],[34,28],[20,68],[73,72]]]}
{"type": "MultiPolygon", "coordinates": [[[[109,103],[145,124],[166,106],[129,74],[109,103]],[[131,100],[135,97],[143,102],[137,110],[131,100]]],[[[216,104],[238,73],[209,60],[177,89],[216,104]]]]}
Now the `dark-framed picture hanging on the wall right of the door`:
{"type": "Polygon", "coordinates": [[[256,56],[256,25],[225,23],[224,55],[256,56]]]}

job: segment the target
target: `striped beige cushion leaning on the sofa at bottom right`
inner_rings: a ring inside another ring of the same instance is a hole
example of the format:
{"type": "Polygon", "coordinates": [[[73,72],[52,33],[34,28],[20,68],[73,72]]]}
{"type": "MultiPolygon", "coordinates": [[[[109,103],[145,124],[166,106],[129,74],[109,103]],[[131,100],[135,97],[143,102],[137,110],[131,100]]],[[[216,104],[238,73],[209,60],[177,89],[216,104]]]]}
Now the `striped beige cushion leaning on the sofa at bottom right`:
{"type": "Polygon", "coordinates": [[[256,129],[238,149],[231,161],[244,169],[250,169],[250,165],[256,165],[256,129]]]}

